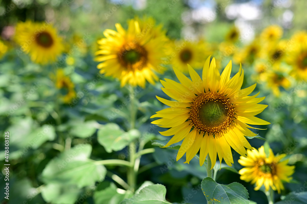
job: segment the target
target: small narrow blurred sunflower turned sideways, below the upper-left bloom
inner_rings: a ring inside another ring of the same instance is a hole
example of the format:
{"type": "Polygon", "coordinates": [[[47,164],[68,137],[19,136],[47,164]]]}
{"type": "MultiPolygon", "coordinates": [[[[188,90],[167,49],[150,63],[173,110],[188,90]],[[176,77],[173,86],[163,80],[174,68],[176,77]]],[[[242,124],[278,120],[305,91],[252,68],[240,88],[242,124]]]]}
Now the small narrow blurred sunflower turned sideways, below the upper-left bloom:
{"type": "Polygon", "coordinates": [[[64,103],[69,103],[76,97],[75,85],[71,79],[64,74],[63,69],[56,70],[56,74],[52,75],[52,79],[55,81],[55,86],[60,90],[60,99],[64,103]]]}

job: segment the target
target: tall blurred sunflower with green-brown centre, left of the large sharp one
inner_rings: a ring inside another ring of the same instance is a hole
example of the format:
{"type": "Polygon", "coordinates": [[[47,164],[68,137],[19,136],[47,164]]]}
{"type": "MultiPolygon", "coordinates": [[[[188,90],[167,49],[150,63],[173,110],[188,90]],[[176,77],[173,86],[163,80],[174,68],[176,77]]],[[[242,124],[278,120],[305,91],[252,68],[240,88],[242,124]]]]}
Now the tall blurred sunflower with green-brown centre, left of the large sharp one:
{"type": "Polygon", "coordinates": [[[146,80],[154,84],[158,80],[154,72],[164,71],[160,66],[161,58],[165,56],[164,39],[159,33],[153,35],[151,29],[157,31],[154,25],[146,28],[143,24],[141,29],[139,20],[130,20],[125,30],[117,23],[117,32],[106,29],[105,38],[98,40],[95,60],[101,63],[97,68],[101,74],[118,78],[122,87],[127,83],[145,87],[146,80]]]}

